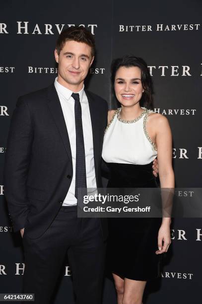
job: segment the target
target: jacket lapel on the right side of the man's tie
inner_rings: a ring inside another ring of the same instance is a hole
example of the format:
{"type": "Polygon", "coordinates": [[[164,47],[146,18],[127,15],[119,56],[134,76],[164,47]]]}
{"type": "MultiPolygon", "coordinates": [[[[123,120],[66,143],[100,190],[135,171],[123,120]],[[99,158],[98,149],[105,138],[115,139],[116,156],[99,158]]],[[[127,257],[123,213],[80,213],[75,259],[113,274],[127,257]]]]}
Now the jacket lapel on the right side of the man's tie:
{"type": "MultiPolygon", "coordinates": [[[[97,175],[98,162],[99,162],[99,111],[97,109],[96,100],[92,95],[85,90],[86,96],[88,98],[90,118],[92,124],[92,133],[93,133],[93,152],[94,152],[94,164],[95,164],[95,174],[97,175]]],[[[96,176],[97,177],[97,176],[96,176]]]]}

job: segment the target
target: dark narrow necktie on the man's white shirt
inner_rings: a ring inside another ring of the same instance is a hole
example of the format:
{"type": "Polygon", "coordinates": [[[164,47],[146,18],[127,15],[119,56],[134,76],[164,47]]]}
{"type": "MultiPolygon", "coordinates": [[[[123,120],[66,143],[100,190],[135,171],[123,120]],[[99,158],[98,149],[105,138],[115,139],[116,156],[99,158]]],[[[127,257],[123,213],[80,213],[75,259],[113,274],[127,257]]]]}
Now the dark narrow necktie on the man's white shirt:
{"type": "Polygon", "coordinates": [[[76,170],[75,170],[75,198],[77,198],[78,188],[85,188],[82,190],[82,195],[87,194],[86,185],[86,170],[85,170],[85,149],[83,140],[83,127],[81,104],[78,93],[72,93],[71,96],[75,100],[74,103],[74,116],[75,116],[75,129],[76,129],[76,170]]]}

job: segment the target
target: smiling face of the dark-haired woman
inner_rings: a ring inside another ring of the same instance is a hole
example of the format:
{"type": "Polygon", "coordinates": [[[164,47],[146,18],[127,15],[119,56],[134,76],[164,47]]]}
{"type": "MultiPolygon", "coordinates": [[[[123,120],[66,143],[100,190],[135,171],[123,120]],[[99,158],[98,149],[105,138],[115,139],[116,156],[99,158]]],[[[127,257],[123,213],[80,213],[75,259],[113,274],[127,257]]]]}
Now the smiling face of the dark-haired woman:
{"type": "Polygon", "coordinates": [[[144,91],[141,84],[141,70],[138,67],[120,67],[114,82],[116,97],[123,106],[139,102],[144,91]]]}

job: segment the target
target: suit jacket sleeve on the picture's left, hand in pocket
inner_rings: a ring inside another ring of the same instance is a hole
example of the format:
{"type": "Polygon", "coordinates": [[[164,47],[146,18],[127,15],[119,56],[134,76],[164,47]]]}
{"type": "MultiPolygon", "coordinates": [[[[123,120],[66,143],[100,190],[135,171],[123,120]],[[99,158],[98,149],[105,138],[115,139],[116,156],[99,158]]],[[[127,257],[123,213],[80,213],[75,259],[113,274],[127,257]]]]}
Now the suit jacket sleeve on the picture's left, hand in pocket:
{"type": "Polygon", "coordinates": [[[4,195],[14,231],[24,228],[29,213],[26,182],[32,142],[30,111],[20,97],[11,118],[4,163],[4,195]]]}

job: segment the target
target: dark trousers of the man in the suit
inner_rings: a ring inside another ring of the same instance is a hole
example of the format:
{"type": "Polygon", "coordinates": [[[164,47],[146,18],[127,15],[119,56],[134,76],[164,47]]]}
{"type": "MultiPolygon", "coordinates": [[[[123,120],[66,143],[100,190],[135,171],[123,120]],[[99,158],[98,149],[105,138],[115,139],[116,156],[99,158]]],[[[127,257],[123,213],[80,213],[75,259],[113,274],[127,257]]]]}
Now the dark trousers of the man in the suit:
{"type": "Polygon", "coordinates": [[[24,293],[34,293],[36,304],[51,303],[66,253],[76,303],[101,303],[105,242],[98,219],[77,218],[75,206],[62,207],[41,237],[31,239],[25,230],[23,245],[24,293]]]}

